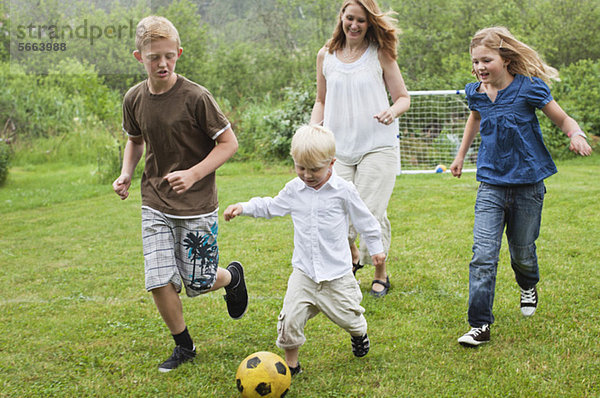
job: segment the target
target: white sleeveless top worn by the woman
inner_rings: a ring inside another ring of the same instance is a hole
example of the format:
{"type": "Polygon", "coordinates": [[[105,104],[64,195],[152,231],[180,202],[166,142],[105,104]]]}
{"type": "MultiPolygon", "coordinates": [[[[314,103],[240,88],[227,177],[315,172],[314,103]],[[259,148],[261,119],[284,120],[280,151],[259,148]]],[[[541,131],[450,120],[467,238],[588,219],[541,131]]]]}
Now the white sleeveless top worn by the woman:
{"type": "Polygon", "coordinates": [[[325,53],[327,82],[323,125],[335,135],[336,157],[354,165],[369,153],[398,147],[398,120],[379,123],[376,114],[390,107],[377,46],[369,45],[357,61],[346,64],[325,53]]]}

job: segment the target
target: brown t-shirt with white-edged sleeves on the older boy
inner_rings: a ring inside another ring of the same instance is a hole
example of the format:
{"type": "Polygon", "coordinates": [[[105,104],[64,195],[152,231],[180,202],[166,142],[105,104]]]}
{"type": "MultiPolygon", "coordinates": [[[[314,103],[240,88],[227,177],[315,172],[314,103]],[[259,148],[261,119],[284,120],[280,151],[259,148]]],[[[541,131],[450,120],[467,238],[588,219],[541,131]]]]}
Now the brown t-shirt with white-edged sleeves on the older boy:
{"type": "Polygon", "coordinates": [[[181,195],[163,177],[202,161],[227,127],[229,121],[210,92],[183,76],[163,94],[150,93],[147,81],[129,89],[123,99],[123,130],[141,135],[146,143],[142,205],[182,217],[215,211],[215,173],[181,195]]]}

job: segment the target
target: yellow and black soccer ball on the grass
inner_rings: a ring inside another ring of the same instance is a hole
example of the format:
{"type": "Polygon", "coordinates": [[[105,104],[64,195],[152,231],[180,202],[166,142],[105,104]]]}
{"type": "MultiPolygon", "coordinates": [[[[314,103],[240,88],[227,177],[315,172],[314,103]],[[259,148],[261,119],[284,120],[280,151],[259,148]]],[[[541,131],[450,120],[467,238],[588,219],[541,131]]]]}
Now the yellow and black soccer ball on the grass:
{"type": "Polygon", "coordinates": [[[292,375],[279,355],[260,351],[240,363],[235,381],[243,398],[280,398],[289,391],[292,375]]]}

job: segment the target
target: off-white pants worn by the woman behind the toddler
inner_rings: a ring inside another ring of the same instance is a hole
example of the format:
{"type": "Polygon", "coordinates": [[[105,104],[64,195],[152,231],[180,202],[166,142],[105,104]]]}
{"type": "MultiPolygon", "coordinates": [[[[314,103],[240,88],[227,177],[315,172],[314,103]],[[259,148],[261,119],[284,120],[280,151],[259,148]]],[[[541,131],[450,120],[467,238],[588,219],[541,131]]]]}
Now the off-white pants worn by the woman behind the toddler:
{"type": "MultiPolygon", "coordinates": [[[[355,165],[343,164],[339,160],[334,164],[335,172],[347,181],[352,181],[367,208],[381,225],[381,240],[387,255],[392,241],[392,226],[387,218],[387,206],[396,183],[398,169],[398,148],[389,148],[378,152],[367,153],[355,165]]],[[[356,239],[358,233],[350,226],[348,238],[356,239]]],[[[367,245],[361,240],[360,262],[371,264],[371,256],[367,245]]]]}

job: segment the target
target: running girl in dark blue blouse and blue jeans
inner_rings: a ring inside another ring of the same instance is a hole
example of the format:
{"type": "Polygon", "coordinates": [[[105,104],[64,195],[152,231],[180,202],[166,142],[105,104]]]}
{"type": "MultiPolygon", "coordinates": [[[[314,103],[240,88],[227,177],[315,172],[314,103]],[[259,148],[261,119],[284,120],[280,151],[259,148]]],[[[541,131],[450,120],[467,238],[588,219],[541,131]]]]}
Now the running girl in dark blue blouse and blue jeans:
{"type": "Polygon", "coordinates": [[[521,289],[521,313],[531,316],[538,304],[539,236],[544,179],[556,166],[544,145],[535,115],[541,109],[571,139],[569,149],[588,156],[592,149],[575,120],[554,101],[546,83],[558,77],[538,54],[504,27],[482,29],[470,45],[477,83],[465,87],[471,114],[450,171],[460,177],[477,132],[480,182],[475,202],[473,258],[469,264],[471,330],[458,339],[465,346],[490,340],[492,306],[502,233],[506,228],[511,265],[521,289]]]}

